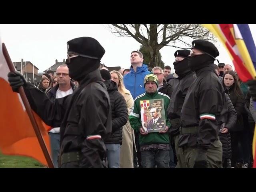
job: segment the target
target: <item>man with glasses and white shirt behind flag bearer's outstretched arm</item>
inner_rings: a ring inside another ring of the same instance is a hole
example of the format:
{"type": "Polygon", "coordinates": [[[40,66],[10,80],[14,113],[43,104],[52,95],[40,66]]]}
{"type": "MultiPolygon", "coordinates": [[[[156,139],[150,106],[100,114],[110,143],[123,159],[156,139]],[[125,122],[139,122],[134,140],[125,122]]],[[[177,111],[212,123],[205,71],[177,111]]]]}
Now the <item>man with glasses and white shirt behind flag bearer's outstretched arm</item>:
{"type": "MultiPolygon", "coordinates": [[[[65,97],[73,93],[75,85],[70,81],[68,75],[68,66],[62,64],[56,70],[57,85],[54,86],[48,93],[49,99],[54,102],[55,99],[65,97]]],[[[60,127],[54,127],[49,131],[52,161],[55,168],[58,168],[58,156],[60,154],[60,127]]]]}

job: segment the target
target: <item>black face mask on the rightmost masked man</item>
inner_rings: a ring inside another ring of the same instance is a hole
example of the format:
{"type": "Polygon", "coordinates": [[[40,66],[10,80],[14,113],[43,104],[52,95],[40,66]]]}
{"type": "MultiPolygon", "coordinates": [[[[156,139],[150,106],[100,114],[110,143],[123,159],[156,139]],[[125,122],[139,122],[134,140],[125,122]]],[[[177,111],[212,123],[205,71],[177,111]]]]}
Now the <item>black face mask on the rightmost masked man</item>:
{"type": "Polygon", "coordinates": [[[210,61],[213,62],[214,59],[207,54],[196,55],[196,56],[189,57],[188,66],[192,71],[196,71],[204,67],[204,65],[210,61]]]}

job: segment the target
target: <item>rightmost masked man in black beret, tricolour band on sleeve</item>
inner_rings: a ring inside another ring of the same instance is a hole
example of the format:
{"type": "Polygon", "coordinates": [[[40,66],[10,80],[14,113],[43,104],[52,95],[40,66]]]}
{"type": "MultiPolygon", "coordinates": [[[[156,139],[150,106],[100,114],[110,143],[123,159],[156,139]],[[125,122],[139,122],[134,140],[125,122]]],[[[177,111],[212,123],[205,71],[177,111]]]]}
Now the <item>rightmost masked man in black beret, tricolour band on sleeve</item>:
{"type": "Polygon", "coordinates": [[[221,168],[222,144],[218,127],[227,112],[225,92],[214,71],[218,49],[211,42],[194,40],[188,66],[196,79],[187,91],[181,110],[178,147],[188,168],[221,168]]]}

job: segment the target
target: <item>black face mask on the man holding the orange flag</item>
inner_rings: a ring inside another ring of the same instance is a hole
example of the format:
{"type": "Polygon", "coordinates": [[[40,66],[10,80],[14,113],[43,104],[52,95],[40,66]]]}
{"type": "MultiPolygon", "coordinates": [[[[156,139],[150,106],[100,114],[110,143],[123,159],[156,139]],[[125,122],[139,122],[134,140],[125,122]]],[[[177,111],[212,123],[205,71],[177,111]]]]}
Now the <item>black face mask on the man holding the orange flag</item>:
{"type": "Polygon", "coordinates": [[[86,75],[100,67],[100,61],[84,57],[71,58],[70,62],[66,60],[68,65],[69,76],[75,81],[80,81],[86,75]]]}

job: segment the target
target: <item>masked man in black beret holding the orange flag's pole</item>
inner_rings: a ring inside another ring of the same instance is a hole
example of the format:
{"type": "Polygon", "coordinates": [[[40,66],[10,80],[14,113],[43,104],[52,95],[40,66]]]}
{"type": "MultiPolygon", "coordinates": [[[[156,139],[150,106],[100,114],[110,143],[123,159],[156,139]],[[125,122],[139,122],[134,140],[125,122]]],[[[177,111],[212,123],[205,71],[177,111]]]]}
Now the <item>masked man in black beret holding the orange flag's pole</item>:
{"type": "Polygon", "coordinates": [[[91,37],[72,39],[67,46],[69,76],[79,82],[72,94],[51,102],[21,74],[10,72],[8,80],[15,92],[24,87],[31,108],[46,124],[60,127],[59,167],[103,168],[103,139],[112,131],[110,99],[99,71],[105,50],[91,37]]]}

